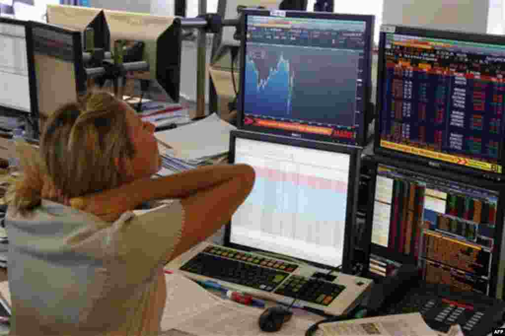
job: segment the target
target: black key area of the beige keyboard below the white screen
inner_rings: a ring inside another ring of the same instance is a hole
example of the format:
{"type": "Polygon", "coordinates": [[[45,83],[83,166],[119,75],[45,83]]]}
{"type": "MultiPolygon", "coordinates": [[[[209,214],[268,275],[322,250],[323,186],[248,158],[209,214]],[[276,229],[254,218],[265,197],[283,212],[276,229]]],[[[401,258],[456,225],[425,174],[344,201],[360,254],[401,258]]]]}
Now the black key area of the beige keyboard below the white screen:
{"type": "Polygon", "coordinates": [[[209,247],[181,270],[328,306],[345,289],[322,279],[290,274],[298,265],[221,247],[209,247]],[[291,276],[289,276],[291,275],[291,276]]]}

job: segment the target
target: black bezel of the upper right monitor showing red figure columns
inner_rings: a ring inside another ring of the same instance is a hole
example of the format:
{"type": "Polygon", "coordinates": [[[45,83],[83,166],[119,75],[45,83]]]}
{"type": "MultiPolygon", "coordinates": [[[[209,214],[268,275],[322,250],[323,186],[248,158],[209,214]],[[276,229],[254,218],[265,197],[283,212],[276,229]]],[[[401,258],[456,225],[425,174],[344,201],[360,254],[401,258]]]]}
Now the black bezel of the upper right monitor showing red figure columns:
{"type": "Polygon", "coordinates": [[[502,174],[493,173],[483,170],[474,169],[472,167],[467,167],[459,165],[456,163],[449,163],[439,159],[432,159],[420,155],[409,154],[400,152],[398,150],[393,150],[389,148],[381,147],[381,117],[384,111],[382,110],[383,104],[383,81],[385,77],[385,37],[386,34],[394,32],[395,34],[412,35],[419,37],[428,38],[440,38],[440,39],[451,39],[460,40],[467,42],[477,42],[477,43],[488,43],[488,44],[501,44],[505,45],[505,38],[498,35],[487,35],[487,34],[477,34],[477,33],[463,33],[458,31],[450,30],[436,30],[436,29],[424,29],[418,27],[407,27],[407,26],[394,26],[394,25],[383,25],[380,31],[379,38],[379,52],[378,52],[378,73],[377,73],[377,96],[376,96],[376,118],[375,118],[375,137],[374,137],[374,151],[377,154],[382,154],[385,156],[395,157],[400,160],[413,160],[422,164],[424,166],[431,166],[441,170],[451,170],[456,173],[468,174],[475,176],[477,178],[484,177],[486,179],[492,179],[495,181],[500,181],[505,176],[505,146],[503,142],[500,143],[498,149],[500,153],[501,160],[498,162],[502,166],[502,174]]]}

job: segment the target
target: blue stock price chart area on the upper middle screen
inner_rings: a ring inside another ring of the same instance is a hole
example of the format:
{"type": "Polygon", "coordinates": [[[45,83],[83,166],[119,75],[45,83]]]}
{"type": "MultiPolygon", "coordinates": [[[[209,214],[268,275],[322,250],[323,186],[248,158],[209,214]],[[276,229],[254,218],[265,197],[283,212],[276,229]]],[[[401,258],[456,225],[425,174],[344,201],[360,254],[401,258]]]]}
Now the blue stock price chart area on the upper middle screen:
{"type": "Polygon", "coordinates": [[[245,114],[324,126],[355,125],[357,51],[249,45],[245,114]]]}

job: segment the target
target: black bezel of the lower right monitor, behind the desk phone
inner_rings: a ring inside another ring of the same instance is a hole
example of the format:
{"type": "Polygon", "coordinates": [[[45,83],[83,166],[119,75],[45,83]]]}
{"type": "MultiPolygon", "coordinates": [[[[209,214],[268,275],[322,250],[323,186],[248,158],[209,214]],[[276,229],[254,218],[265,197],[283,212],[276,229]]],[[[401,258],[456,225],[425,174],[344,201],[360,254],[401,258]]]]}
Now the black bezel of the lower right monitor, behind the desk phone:
{"type": "MultiPolygon", "coordinates": [[[[452,172],[444,171],[444,170],[435,170],[431,167],[425,167],[417,165],[415,162],[405,162],[395,158],[391,158],[383,155],[374,155],[372,158],[374,161],[374,168],[372,171],[372,176],[370,179],[370,201],[367,208],[366,215],[366,232],[365,239],[363,240],[366,243],[369,243],[366,246],[363,246],[365,251],[365,255],[367,256],[365,260],[365,269],[368,269],[370,265],[370,254],[375,254],[377,256],[383,257],[385,259],[389,259],[398,263],[411,263],[414,264],[415,258],[412,255],[402,254],[399,252],[393,252],[388,250],[387,247],[375,244],[372,242],[372,230],[373,230],[373,213],[374,213],[374,203],[375,203],[375,188],[377,181],[377,167],[379,164],[392,166],[396,169],[400,170],[409,170],[414,173],[419,173],[431,177],[435,177],[441,180],[449,180],[456,183],[462,183],[469,186],[475,186],[482,189],[488,189],[491,191],[495,191],[498,193],[498,203],[496,206],[496,223],[495,223],[495,241],[493,245],[493,256],[491,259],[491,271],[489,277],[489,296],[496,297],[497,295],[501,296],[501,293],[498,293],[498,288],[503,286],[504,279],[499,279],[499,267],[500,259],[502,254],[502,239],[503,239],[503,214],[505,211],[503,207],[505,206],[505,186],[501,184],[497,184],[490,180],[485,179],[475,179],[472,176],[454,174],[452,172]],[[499,219],[501,218],[501,219],[499,219]],[[368,248],[368,250],[367,250],[368,248]]],[[[505,260],[504,260],[505,262],[505,260]]]]}

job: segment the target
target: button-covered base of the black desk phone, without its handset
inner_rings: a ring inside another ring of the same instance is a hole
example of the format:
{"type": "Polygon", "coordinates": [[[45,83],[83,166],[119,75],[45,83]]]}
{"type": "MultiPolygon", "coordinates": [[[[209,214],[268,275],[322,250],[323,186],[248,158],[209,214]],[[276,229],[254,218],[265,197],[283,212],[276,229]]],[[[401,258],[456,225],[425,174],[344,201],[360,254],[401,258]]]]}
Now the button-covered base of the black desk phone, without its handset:
{"type": "Polygon", "coordinates": [[[460,324],[468,336],[487,335],[503,323],[505,304],[501,300],[472,292],[461,292],[440,284],[423,284],[410,290],[386,314],[419,312],[432,329],[447,332],[460,324]]]}

